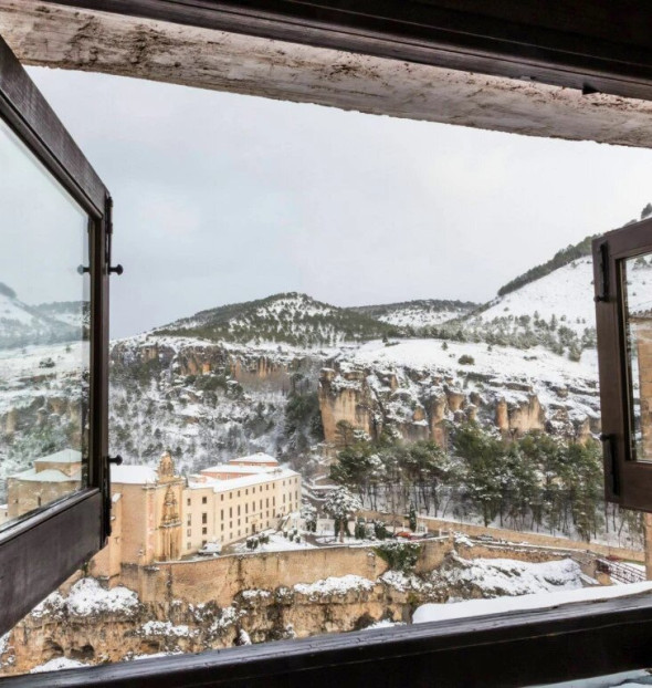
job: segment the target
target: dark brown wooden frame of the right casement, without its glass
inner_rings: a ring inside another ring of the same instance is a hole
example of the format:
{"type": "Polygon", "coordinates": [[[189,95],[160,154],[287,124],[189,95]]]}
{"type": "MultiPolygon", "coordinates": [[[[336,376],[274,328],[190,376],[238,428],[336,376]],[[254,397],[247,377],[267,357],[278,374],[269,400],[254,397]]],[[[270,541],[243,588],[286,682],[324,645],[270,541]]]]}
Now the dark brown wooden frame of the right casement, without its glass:
{"type": "Polygon", "coordinates": [[[631,456],[622,272],[622,261],[652,252],[652,219],[598,237],[592,252],[604,496],[625,509],[652,512],[652,462],[637,461],[631,456]]]}

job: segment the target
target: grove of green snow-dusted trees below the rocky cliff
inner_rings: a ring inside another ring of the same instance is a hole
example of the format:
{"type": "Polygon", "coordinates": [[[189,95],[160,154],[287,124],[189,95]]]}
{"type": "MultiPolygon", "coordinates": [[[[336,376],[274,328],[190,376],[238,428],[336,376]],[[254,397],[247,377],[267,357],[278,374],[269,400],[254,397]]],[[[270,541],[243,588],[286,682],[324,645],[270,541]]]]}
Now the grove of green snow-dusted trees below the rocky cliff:
{"type": "MultiPolygon", "coordinates": [[[[485,525],[564,533],[582,540],[618,530],[625,515],[602,501],[600,448],[533,432],[505,439],[476,424],[435,442],[383,436],[344,448],[330,477],[372,510],[482,520],[485,525]]],[[[413,520],[413,519],[411,519],[413,520]]],[[[629,535],[640,524],[627,521],[629,535]]]]}

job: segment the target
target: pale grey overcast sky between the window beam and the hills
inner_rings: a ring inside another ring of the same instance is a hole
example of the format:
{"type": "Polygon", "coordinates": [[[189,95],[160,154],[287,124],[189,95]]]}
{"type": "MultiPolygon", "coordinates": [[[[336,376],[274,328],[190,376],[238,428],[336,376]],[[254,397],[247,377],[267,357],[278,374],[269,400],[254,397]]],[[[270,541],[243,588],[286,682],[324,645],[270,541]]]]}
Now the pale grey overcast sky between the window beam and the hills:
{"type": "Polygon", "coordinates": [[[485,301],[652,200],[650,150],[29,71],[114,197],[114,337],[282,291],[485,301]]]}

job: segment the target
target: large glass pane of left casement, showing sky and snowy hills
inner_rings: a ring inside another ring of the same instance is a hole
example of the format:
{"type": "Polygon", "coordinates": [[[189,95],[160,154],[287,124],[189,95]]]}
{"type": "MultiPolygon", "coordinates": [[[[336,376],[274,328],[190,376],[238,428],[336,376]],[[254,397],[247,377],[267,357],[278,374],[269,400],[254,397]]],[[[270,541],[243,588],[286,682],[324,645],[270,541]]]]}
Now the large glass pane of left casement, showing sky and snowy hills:
{"type": "Polygon", "coordinates": [[[86,484],[88,216],[0,121],[0,530],[86,484]]]}

